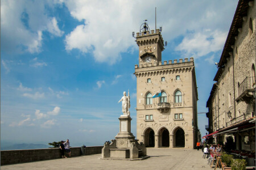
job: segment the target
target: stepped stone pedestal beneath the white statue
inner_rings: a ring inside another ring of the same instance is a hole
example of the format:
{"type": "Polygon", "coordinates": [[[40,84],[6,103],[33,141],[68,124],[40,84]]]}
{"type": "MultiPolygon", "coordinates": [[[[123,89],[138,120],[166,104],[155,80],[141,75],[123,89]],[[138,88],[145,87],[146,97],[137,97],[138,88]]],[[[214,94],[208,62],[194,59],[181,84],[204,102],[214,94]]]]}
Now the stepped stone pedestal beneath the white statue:
{"type": "Polygon", "coordinates": [[[144,144],[138,143],[131,133],[131,117],[122,115],[119,117],[119,133],[115,139],[106,142],[102,148],[102,159],[130,159],[143,160],[149,158],[144,144]]]}

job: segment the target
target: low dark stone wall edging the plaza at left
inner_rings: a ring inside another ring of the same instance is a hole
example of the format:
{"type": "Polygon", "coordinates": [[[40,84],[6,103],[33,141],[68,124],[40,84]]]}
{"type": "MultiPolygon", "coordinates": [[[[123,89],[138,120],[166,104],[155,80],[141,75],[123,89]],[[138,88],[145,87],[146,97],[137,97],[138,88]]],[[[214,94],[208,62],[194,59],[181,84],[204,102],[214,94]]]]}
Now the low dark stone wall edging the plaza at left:
{"type": "MultiPolygon", "coordinates": [[[[85,148],[84,155],[101,154],[103,146],[90,146],[85,148]]],[[[72,147],[71,156],[81,156],[81,147],[72,147]]],[[[46,148],[34,150],[1,151],[1,165],[34,162],[61,158],[59,148],[46,148]]]]}

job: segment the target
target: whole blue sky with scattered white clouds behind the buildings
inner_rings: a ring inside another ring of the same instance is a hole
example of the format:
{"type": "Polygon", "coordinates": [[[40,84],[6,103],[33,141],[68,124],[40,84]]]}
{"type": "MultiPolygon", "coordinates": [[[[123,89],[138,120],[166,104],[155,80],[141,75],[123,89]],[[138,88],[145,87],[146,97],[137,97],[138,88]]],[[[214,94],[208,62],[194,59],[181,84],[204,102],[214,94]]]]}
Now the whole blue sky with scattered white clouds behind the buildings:
{"type": "MultiPolygon", "coordinates": [[[[119,132],[123,91],[131,96],[136,136],[138,45],[143,20],[162,27],[162,61],[195,60],[206,102],[237,0],[1,1],[1,145],[69,139],[102,146],[119,132]]],[[[208,119],[198,114],[204,135],[208,119]]]]}

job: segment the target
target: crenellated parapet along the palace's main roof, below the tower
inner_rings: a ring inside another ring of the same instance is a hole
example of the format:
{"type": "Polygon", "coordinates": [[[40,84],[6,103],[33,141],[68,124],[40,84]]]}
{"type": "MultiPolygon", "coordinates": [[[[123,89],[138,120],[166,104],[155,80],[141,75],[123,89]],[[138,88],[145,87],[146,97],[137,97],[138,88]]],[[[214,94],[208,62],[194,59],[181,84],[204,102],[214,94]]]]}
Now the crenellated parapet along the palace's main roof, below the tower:
{"type": "MultiPolygon", "coordinates": [[[[181,63],[189,63],[189,62],[193,62],[194,58],[191,57],[189,60],[188,58],[185,58],[184,61],[183,59],[179,59],[179,62],[177,62],[177,59],[174,59],[174,61],[172,62],[172,60],[169,60],[168,63],[167,61],[164,61],[162,63],[162,61],[159,62],[154,62],[154,63],[145,63],[145,64],[141,64],[141,65],[135,65],[135,69],[141,69],[141,68],[146,68],[146,67],[155,67],[155,66],[163,66],[163,65],[180,65],[181,63]]],[[[184,65],[183,65],[184,66],[184,65]]]]}

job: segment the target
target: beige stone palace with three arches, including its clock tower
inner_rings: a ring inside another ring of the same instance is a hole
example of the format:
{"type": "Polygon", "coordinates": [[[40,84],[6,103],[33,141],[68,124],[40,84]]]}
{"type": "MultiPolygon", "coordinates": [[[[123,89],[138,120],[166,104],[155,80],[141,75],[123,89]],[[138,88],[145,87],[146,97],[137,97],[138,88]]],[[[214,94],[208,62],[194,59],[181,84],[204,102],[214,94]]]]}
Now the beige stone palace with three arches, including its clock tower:
{"type": "Polygon", "coordinates": [[[159,29],[155,31],[136,37],[137,139],[148,147],[193,148],[198,140],[193,58],[162,62],[164,41],[159,29]],[[158,91],[161,96],[152,98],[158,91]]]}

